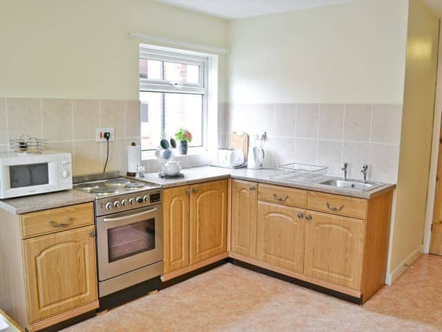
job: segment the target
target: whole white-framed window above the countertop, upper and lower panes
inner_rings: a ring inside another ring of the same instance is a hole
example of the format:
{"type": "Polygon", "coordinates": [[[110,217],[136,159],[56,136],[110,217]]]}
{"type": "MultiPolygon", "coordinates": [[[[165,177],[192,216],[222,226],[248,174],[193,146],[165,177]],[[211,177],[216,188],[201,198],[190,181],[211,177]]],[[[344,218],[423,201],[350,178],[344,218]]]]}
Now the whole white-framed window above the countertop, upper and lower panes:
{"type": "Polygon", "coordinates": [[[206,135],[208,57],[140,47],[141,147],[153,150],[180,129],[203,147],[206,135]]]}

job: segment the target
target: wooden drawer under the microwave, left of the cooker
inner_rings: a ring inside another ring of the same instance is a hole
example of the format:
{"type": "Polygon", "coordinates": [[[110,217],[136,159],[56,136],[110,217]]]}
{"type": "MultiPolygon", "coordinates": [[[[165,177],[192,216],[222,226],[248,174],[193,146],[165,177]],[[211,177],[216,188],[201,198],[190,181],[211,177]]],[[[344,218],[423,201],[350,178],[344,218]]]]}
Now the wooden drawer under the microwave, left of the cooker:
{"type": "Polygon", "coordinates": [[[21,236],[26,239],[84,225],[93,225],[93,223],[93,203],[70,205],[65,208],[23,214],[21,216],[21,236]]]}

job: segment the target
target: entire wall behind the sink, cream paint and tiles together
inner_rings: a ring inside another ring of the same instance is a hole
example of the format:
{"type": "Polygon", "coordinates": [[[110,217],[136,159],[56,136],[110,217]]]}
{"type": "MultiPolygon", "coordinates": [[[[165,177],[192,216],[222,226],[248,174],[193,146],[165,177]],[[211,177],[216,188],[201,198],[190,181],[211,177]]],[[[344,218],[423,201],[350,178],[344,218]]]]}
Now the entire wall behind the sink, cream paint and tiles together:
{"type": "Polygon", "coordinates": [[[397,180],[407,1],[360,0],[229,22],[229,132],[267,132],[265,166],[296,161],[397,180]]]}

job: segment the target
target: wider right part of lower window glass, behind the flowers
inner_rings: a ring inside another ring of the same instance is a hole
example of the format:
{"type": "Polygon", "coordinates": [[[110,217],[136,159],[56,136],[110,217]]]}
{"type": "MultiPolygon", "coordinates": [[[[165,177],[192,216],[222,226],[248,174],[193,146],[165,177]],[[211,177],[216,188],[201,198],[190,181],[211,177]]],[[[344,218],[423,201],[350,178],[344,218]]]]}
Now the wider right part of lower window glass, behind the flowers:
{"type": "Polygon", "coordinates": [[[175,137],[180,129],[192,133],[191,147],[202,145],[202,95],[164,93],[164,133],[175,137]]]}

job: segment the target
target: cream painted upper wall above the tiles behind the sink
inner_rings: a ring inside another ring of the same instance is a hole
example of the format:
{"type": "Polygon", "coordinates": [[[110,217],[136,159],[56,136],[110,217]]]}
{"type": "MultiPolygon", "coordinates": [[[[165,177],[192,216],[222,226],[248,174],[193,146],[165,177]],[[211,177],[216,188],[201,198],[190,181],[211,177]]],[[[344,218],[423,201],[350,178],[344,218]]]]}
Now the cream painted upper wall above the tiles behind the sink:
{"type": "Polygon", "coordinates": [[[405,0],[239,19],[229,28],[231,103],[402,103],[405,0]]]}

